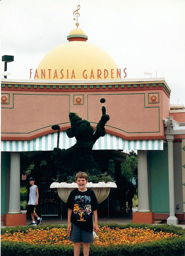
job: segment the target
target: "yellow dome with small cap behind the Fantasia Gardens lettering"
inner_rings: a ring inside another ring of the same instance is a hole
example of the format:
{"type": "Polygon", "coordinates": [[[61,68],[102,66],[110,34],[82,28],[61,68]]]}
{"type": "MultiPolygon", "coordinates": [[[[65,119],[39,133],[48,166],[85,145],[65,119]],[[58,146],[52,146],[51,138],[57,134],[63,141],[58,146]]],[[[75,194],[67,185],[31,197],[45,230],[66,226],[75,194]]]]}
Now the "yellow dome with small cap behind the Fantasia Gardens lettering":
{"type": "MultiPolygon", "coordinates": [[[[68,37],[85,35],[76,28],[68,37]],[[80,34],[81,33],[81,34],[80,34]]],[[[84,36],[87,37],[87,36],[84,36]]],[[[81,39],[80,39],[81,40],[81,39]]],[[[117,79],[117,65],[100,47],[85,41],[69,41],[52,49],[39,63],[35,79],[117,79]]]]}

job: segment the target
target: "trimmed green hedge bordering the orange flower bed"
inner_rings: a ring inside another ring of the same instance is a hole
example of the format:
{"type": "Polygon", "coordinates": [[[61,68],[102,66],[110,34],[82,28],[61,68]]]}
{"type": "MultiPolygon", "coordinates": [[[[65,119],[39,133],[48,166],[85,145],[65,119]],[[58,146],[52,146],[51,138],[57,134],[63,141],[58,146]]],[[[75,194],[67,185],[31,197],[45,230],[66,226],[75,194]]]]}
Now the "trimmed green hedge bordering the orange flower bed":
{"type": "MultiPolygon", "coordinates": [[[[102,226],[109,226],[111,228],[118,227],[120,229],[128,227],[140,227],[140,228],[150,228],[156,231],[162,232],[173,232],[181,237],[172,237],[167,239],[157,240],[155,242],[147,243],[137,243],[133,245],[116,245],[109,247],[100,247],[97,245],[90,244],[89,256],[182,256],[185,252],[185,230],[182,227],[177,227],[174,225],[147,225],[147,224],[116,224],[101,223],[102,226]]],[[[61,225],[40,225],[39,228],[47,229],[49,228],[60,228],[61,225]]],[[[66,228],[66,225],[62,226],[66,228]]],[[[18,229],[20,232],[26,231],[28,226],[19,226],[11,228],[1,229],[1,234],[6,231],[9,233],[14,233],[18,229]]],[[[38,229],[37,226],[32,227],[32,229],[38,229]]],[[[1,255],[4,256],[73,256],[73,246],[71,245],[31,245],[29,243],[17,243],[17,242],[3,242],[1,241],[1,255]]],[[[81,248],[80,255],[83,255],[83,250],[81,248]]]]}

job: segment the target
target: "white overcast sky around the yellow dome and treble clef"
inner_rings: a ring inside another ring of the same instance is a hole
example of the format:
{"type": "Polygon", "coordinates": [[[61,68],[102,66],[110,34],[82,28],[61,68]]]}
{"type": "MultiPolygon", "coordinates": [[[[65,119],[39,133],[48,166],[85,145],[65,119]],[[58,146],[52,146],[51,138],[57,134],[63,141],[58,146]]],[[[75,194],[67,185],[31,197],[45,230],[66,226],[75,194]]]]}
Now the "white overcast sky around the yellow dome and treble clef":
{"type": "MultiPolygon", "coordinates": [[[[185,105],[185,1],[1,0],[1,56],[13,55],[7,78],[29,79],[29,69],[68,42],[80,5],[79,28],[104,49],[126,78],[165,77],[171,104],[185,105]]],[[[4,62],[1,62],[1,74],[4,62]]],[[[3,76],[1,76],[3,77],[3,76]]]]}

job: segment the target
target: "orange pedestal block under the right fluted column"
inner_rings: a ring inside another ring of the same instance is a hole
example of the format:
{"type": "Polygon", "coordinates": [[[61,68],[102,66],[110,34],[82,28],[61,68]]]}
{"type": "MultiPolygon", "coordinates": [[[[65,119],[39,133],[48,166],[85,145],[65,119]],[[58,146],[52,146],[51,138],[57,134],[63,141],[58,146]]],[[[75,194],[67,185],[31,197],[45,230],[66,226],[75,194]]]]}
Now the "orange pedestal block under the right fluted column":
{"type": "Polygon", "coordinates": [[[154,224],[154,212],[133,212],[133,223],[154,224]]]}

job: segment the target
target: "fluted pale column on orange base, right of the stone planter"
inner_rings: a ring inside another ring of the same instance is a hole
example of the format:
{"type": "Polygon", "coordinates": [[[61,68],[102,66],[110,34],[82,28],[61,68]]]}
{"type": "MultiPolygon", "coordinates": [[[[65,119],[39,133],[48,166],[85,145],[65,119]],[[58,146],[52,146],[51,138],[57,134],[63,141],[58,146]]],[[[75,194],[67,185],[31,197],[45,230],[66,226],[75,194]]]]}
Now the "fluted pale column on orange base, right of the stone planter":
{"type": "Polygon", "coordinates": [[[138,168],[138,210],[150,212],[148,201],[147,150],[137,150],[138,168]]]}

